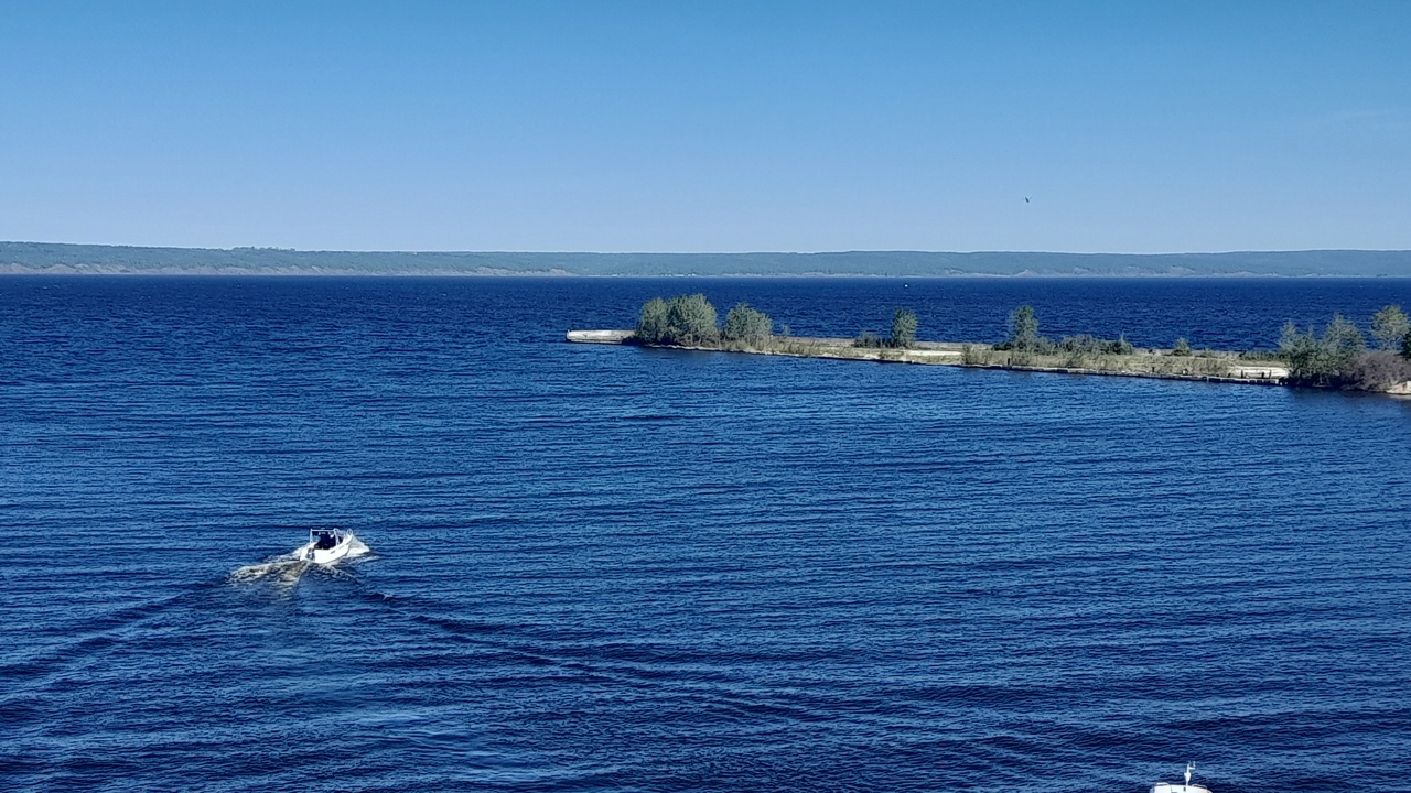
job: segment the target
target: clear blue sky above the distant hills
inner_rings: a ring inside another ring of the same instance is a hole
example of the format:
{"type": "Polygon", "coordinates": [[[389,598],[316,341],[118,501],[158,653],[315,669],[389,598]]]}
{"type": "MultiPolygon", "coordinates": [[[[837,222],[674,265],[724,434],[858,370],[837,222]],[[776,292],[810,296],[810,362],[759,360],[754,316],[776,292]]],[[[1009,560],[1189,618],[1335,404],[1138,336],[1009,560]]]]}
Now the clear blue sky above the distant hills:
{"type": "Polygon", "coordinates": [[[0,240],[1411,248],[1411,1],[0,0],[0,240]]]}

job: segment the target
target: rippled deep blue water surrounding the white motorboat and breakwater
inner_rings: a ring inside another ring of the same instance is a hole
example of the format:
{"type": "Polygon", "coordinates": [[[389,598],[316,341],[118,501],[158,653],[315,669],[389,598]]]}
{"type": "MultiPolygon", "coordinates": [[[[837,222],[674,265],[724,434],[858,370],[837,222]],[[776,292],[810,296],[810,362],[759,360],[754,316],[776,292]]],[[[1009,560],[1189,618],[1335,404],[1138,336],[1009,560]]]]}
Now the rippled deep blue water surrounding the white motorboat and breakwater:
{"type": "Polygon", "coordinates": [[[0,789],[1405,789],[1411,402],[562,341],[1271,346],[1411,281],[0,278],[0,789]],[[231,580],[310,526],[373,555],[231,580]]]}

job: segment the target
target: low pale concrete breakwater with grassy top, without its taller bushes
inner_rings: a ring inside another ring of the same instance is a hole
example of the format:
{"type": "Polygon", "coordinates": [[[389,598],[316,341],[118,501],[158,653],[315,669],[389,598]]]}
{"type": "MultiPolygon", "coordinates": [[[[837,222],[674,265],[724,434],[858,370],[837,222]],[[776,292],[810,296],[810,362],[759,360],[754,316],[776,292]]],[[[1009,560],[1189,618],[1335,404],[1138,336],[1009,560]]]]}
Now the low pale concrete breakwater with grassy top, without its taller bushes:
{"type": "MultiPolygon", "coordinates": [[[[579,344],[625,344],[631,337],[631,330],[570,330],[567,334],[569,341],[579,344]]],[[[959,341],[917,341],[914,347],[892,349],[854,347],[851,339],[793,336],[773,337],[759,346],[670,347],[752,353],[758,356],[847,358],[899,364],[1149,377],[1160,380],[1198,380],[1240,385],[1283,385],[1284,378],[1288,377],[1288,370],[1276,361],[1245,361],[1233,353],[1173,356],[1170,350],[1139,350],[1130,356],[1026,356],[1009,350],[995,350],[991,344],[967,344],[959,341]]]]}

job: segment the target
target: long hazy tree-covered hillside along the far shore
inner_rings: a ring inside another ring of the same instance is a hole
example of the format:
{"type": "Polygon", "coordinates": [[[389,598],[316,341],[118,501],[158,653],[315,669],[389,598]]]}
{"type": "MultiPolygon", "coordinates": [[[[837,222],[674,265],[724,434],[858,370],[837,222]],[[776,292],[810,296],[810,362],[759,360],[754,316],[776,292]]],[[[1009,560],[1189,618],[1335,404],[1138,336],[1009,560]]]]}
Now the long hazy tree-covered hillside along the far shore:
{"type": "Polygon", "coordinates": [[[1411,251],[586,254],[143,248],[0,243],[0,274],[148,275],[1324,275],[1411,277],[1411,251]]]}

